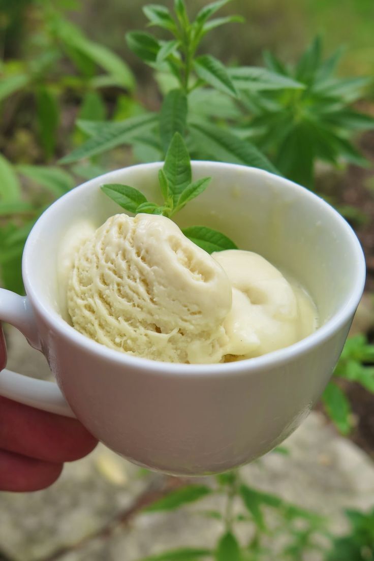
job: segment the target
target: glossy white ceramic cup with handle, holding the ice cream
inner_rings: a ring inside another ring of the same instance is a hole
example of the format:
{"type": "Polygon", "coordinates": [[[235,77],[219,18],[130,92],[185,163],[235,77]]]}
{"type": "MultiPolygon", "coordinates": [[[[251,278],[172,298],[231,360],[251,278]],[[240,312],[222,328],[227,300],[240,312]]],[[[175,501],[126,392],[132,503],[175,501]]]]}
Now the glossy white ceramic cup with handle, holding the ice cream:
{"type": "Polygon", "coordinates": [[[75,415],[122,456],[164,472],[220,472],[268,452],[306,417],[333,373],[361,298],[365,264],[352,228],[331,206],[283,177],[241,165],[193,162],[206,191],[177,215],[204,225],[288,272],[316,302],[321,327],[290,347],[228,364],[155,362],[111,350],[61,316],[57,255],[67,228],[97,226],[121,208],[100,191],[124,183],[159,200],[159,163],[88,181],[54,203],[26,242],[26,297],[0,292],[0,319],[44,353],[57,384],[3,370],[0,394],[75,415]]]}

